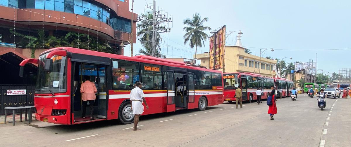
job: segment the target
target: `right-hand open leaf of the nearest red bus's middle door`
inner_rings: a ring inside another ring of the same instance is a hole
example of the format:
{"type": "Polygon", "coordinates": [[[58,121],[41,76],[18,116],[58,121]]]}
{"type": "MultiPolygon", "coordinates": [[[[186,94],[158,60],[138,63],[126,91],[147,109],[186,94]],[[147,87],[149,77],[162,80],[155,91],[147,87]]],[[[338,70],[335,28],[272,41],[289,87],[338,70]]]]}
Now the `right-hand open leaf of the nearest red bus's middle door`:
{"type": "Polygon", "coordinates": [[[188,109],[193,109],[195,108],[195,103],[194,103],[194,100],[195,100],[195,89],[194,89],[194,73],[192,72],[187,72],[186,73],[187,75],[187,85],[186,85],[186,89],[187,89],[187,95],[188,95],[188,98],[187,98],[187,108],[188,109]]]}

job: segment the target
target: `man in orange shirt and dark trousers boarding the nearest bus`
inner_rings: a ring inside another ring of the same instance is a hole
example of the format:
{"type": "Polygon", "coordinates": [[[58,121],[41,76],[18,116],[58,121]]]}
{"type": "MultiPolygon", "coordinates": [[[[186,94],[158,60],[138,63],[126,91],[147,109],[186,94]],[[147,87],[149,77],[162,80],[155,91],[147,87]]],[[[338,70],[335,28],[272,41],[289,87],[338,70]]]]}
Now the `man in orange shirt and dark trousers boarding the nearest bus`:
{"type": "Polygon", "coordinates": [[[93,82],[90,82],[90,76],[84,76],[85,82],[80,86],[80,93],[82,93],[83,100],[83,112],[82,118],[85,118],[86,108],[89,102],[90,105],[90,120],[94,120],[93,112],[94,112],[94,101],[96,99],[95,93],[98,92],[96,86],[93,82]]]}

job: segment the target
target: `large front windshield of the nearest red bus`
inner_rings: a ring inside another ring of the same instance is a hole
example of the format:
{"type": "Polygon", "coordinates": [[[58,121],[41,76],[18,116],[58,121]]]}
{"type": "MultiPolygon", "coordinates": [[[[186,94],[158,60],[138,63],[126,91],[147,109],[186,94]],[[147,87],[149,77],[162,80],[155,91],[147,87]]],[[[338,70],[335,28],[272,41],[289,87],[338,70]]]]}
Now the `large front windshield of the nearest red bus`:
{"type": "Polygon", "coordinates": [[[44,70],[46,56],[39,56],[37,84],[35,93],[62,93],[67,90],[66,57],[53,56],[53,64],[50,72],[44,70]]]}

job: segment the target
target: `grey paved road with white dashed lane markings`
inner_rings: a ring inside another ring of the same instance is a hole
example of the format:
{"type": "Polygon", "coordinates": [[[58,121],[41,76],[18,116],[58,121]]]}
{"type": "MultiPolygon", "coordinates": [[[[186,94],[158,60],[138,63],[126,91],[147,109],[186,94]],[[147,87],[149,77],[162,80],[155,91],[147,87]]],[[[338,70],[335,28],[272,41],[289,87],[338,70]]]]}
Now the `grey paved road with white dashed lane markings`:
{"type": "Polygon", "coordinates": [[[132,124],[100,121],[73,126],[34,121],[1,124],[1,146],[350,146],[351,99],[327,99],[321,111],[317,98],[299,94],[297,101],[278,99],[278,114],[270,120],[264,103],[235,109],[227,102],[205,111],[184,110],[140,118],[132,124]],[[85,137],[85,138],[84,138],[85,137]],[[79,139],[80,138],[80,139],[79,139]]]}

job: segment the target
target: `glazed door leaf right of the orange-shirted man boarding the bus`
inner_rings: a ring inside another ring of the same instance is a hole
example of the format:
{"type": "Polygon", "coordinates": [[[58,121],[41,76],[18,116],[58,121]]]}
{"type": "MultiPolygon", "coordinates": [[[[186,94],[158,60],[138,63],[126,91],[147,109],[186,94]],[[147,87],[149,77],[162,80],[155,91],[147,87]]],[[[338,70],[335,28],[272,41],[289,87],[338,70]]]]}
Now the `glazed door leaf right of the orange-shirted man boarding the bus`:
{"type": "MultiPolygon", "coordinates": [[[[100,65],[97,67],[98,76],[95,79],[95,85],[97,85],[96,89],[98,90],[97,93],[97,100],[98,100],[98,116],[97,118],[106,119],[107,113],[107,93],[106,93],[106,81],[107,76],[106,73],[106,65],[100,65]]],[[[96,100],[95,100],[96,103],[96,100]]]]}

